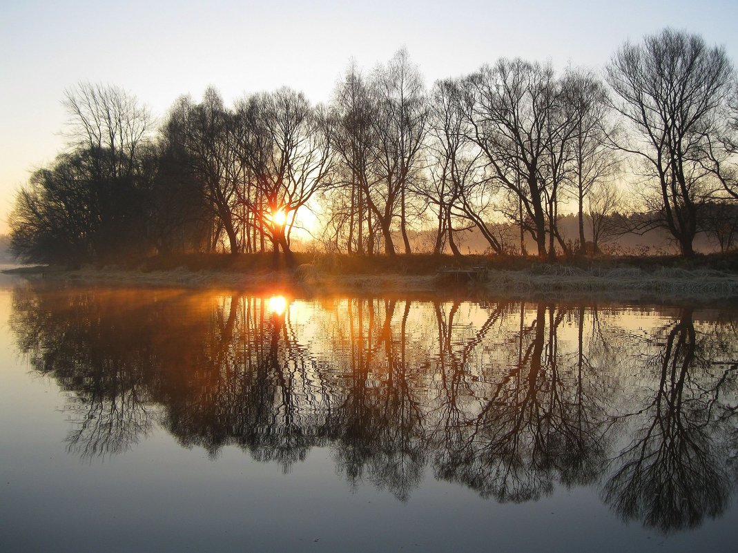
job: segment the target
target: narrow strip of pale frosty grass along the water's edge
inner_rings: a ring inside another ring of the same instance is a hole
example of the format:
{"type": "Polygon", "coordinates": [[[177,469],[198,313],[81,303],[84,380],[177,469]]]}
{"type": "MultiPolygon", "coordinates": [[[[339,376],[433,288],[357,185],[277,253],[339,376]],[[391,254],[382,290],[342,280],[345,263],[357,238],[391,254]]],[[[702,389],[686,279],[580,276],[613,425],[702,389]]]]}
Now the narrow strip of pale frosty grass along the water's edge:
{"type": "Polygon", "coordinates": [[[472,281],[444,281],[438,274],[374,275],[308,274],[287,270],[234,272],[218,269],[193,271],[52,267],[18,267],[2,271],[44,284],[146,286],[189,289],[229,289],[293,297],[336,295],[488,300],[606,300],[620,303],[717,303],[738,306],[738,275],[715,269],[634,267],[579,269],[568,265],[539,265],[528,269],[486,269],[472,281]]]}

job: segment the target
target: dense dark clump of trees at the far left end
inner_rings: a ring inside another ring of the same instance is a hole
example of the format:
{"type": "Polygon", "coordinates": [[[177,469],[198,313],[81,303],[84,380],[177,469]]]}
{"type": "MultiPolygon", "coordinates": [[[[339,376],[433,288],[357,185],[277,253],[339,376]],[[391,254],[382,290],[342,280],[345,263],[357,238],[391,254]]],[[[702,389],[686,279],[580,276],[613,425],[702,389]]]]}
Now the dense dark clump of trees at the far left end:
{"type": "Polygon", "coordinates": [[[123,89],[81,83],[66,92],[69,152],[35,171],[10,215],[24,261],[76,264],[145,251],[153,178],[151,117],[123,89]]]}

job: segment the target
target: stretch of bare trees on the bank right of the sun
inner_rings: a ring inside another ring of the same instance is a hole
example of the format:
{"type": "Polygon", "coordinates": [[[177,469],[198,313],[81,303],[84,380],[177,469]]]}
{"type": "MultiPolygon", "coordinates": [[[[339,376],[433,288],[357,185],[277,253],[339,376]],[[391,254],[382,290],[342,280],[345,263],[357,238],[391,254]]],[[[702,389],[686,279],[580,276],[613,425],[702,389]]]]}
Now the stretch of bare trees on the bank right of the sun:
{"type": "Polygon", "coordinates": [[[588,211],[594,247],[612,233],[661,228],[692,255],[697,233],[717,236],[725,212],[734,213],[725,207],[738,198],[734,69],[723,49],[696,35],[664,30],[625,44],[604,82],[582,69],[557,76],[551,66],[502,59],[439,80],[426,95],[404,52],[390,69],[367,79],[351,66],[334,101],[349,185],[337,193],[344,208],[331,211],[339,249],[342,236],[345,250],[363,251],[353,241],[365,219],[372,228],[371,216],[362,216],[370,212],[385,251],[394,251],[387,228],[394,218],[409,253],[408,195],[415,215],[432,213],[425,222],[435,221],[436,253],[446,244],[460,253],[455,233],[472,227],[503,253],[500,221],[520,227],[522,253],[525,233],[539,256],[568,252],[557,224],[567,203],[576,206],[579,248],[588,211]],[[387,106],[401,117],[391,120],[387,106]],[[395,142],[387,143],[387,129],[395,142]],[[618,193],[626,184],[638,200],[630,206],[618,193]],[[613,215],[628,207],[640,213],[615,224],[613,215]]]}

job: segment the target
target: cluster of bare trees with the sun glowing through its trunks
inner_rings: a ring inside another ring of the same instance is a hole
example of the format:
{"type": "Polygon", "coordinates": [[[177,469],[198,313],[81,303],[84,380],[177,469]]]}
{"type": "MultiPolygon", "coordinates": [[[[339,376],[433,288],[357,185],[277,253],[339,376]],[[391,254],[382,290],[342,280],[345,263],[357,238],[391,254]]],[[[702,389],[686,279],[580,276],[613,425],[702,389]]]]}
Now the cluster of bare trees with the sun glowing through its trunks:
{"type": "Polygon", "coordinates": [[[324,109],[286,88],[232,109],[214,89],[177,101],[162,139],[210,210],[209,249],[225,236],[231,253],[263,251],[265,238],[289,252],[295,213],[331,176],[326,124],[324,109]]]}

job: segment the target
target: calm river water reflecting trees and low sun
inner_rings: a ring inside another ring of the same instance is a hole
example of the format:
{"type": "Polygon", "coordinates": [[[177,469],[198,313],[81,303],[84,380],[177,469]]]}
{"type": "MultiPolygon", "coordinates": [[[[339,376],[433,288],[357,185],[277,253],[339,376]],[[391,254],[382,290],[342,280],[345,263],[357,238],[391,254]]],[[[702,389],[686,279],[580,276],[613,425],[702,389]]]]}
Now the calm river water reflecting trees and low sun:
{"type": "Polygon", "coordinates": [[[0,286],[0,549],[730,551],[738,311],[0,286]]]}

